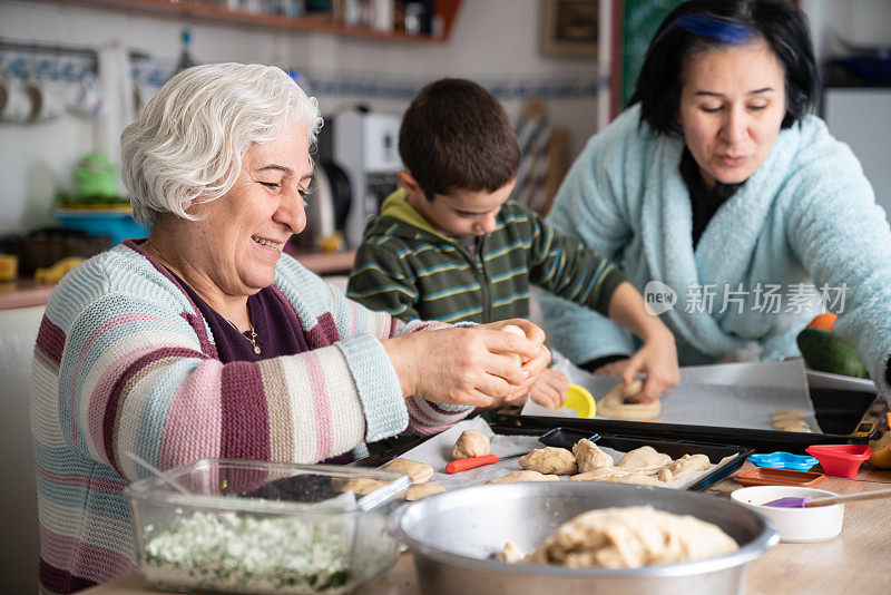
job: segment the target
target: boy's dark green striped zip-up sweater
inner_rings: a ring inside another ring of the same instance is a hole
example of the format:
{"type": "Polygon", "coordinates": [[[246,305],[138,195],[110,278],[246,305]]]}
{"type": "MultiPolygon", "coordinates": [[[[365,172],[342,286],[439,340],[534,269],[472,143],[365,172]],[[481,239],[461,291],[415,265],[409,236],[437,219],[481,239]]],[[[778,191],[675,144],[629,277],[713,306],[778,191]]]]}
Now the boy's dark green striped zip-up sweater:
{"type": "Polygon", "coordinates": [[[435,231],[405,201],[386,198],[365,227],[347,296],[402,320],[493,322],[529,316],[530,283],[607,313],[624,273],[512,202],[477,254],[435,231]]]}

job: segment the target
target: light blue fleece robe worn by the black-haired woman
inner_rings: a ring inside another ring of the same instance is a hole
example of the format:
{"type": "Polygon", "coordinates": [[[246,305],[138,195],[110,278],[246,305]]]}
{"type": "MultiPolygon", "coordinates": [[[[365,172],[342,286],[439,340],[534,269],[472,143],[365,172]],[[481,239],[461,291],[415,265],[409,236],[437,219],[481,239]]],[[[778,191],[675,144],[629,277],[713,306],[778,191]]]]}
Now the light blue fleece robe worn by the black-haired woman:
{"type": "MultiPolygon", "coordinates": [[[[781,130],[767,160],[718,208],[695,250],[678,168],[683,149],[683,139],[655,135],[640,123],[639,106],[629,108],[588,142],[549,222],[619,263],[639,291],[659,281],[676,292],[662,318],[682,364],[715,362],[753,344],[762,360],[799,354],[795,335],[819,313],[803,306],[805,294],[814,294],[806,285],[825,287],[839,313],[836,332],[854,341],[889,396],[891,232],[851,149],[815,116],[781,130]],[[703,299],[709,293],[711,311],[703,299]],[[773,296],[782,296],[779,308],[773,296]]],[[[636,349],[609,319],[552,295],[540,300],[548,335],[570,360],[636,349]]]]}

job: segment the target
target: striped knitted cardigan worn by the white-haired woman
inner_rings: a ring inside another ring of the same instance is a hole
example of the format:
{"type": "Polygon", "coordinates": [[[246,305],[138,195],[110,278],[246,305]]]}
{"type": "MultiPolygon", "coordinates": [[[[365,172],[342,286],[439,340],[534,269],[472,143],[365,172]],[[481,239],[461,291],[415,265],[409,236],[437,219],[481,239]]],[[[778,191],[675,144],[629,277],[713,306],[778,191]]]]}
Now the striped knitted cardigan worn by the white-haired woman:
{"type": "Polygon", "coordinates": [[[407,427],[435,433],[471,410],[403,399],[381,344],[446,324],[371,312],[286,255],[273,291],[310,351],[223,364],[195,304],[131,242],[62,279],[32,369],[41,592],[135,569],[121,491],[145,471],[125,451],[161,469],[202,457],[315,462],[407,427]]]}

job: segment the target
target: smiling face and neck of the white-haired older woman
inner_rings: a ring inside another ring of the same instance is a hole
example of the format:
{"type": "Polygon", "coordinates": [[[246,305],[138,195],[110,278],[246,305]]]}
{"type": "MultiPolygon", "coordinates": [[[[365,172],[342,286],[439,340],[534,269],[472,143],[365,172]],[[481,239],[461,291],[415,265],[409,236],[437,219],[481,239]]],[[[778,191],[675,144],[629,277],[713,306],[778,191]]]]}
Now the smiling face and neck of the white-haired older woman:
{"type": "Polygon", "coordinates": [[[228,295],[271,285],[285,242],[306,226],[303,195],[311,181],[306,128],[292,125],[253,145],[232,189],[189,209],[206,213],[187,226],[190,265],[228,295]]]}

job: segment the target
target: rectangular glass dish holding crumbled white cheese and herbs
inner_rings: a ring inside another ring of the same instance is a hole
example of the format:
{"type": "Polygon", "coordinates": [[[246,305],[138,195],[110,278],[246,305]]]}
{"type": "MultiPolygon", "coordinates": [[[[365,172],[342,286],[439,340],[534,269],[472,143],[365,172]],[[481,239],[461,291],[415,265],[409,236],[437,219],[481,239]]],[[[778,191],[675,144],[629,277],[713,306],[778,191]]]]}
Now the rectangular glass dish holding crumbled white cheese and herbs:
{"type": "Polygon", "coordinates": [[[396,471],[232,459],[167,476],[188,495],[154,476],[124,491],[139,576],[156,588],[218,593],[356,589],[395,562],[385,519],[411,485],[396,471]],[[375,489],[356,496],[356,481],[375,489]]]}

